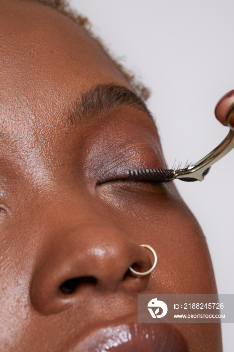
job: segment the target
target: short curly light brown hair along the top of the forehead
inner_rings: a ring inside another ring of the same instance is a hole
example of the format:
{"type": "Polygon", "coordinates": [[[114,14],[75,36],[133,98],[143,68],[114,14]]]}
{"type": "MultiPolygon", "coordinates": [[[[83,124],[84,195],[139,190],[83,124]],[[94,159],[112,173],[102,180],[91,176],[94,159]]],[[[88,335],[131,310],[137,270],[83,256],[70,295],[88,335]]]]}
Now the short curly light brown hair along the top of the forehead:
{"type": "Polygon", "coordinates": [[[123,73],[125,78],[129,81],[130,85],[132,86],[134,92],[140,96],[144,101],[146,101],[150,96],[150,90],[141,82],[139,81],[133,72],[130,72],[124,68],[124,66],[115,60],[106,46],[103,44],[101,39],[97,37],[91,30],[91,24],[88,19],[80,14],[78,14],[75,10],[71,9],[67,0],[33,0],[39,2],[45,6],[49,6],[60,14],[68,17],[79,26],[83,27],[85,31],[92,37],[98,45],[102,48],[102,50],[110,57],[112,62],[119,68],[119,70],[123,73]]]}

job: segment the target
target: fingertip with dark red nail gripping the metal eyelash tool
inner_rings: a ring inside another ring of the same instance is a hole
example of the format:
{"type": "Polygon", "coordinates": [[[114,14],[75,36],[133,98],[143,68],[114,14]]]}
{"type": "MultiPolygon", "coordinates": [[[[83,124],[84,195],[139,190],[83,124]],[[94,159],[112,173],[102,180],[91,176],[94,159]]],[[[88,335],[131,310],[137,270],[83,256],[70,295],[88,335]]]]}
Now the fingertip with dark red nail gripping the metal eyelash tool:
{"type": "MultiPolygon", "coordinates": [[[[231,107],[231,105],[234,104],[234,90],[228,92],[225,94],[218,102],[216,105],[216,108],[214,110],[214,114],[216,118],[223,124],[227,125],[226,123],[226,114],[228,112],[228,109],[231,107]]],[[[234,113],[229,115],[228,121],[227,121],[232,127],[234,127],[234,113]]]]}

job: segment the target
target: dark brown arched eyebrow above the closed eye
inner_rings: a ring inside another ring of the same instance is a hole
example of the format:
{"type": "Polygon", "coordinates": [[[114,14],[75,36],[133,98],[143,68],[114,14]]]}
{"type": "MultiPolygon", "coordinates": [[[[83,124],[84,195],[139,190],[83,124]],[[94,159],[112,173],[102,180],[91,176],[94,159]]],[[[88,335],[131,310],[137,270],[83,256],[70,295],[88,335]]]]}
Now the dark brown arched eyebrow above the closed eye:
{"type": "Polygon", "coordinates": [[[69,108],[68,119],[71,124],[93,120],[99,115],[123,106],[142,110],[154,122],[146,104],[137,94],[124,86],[115,84],[99,84],[84,92],[69,108]]]}

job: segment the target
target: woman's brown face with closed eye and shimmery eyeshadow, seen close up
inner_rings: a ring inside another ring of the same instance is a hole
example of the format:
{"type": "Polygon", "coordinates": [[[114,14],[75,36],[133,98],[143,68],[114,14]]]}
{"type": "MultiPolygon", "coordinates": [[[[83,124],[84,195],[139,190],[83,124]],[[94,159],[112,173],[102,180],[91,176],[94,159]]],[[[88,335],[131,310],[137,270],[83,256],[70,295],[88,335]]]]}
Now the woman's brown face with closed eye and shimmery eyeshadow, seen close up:
{"type": "Polygon", "coordinates": [[[140,293],[216,288],[205,238],[174,184],[120,180],[166,167],[130,84],[56,11],[2,0],[0,17],[3,350],[156,351],[170,337],[160,350],[220,351],[218,324],[136,325],[140,293]],[[157,267],[132,276],[134,262],[151,266],[145,243],[157,267]]]}

